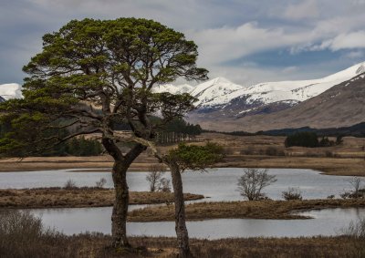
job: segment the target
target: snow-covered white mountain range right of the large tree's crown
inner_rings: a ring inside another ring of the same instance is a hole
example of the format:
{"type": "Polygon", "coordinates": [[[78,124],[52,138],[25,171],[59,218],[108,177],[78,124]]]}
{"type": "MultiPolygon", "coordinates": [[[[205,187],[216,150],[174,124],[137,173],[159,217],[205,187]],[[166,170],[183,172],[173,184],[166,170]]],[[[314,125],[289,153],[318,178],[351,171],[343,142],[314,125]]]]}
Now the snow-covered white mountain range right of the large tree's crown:
{"type": "Polygon", "coordinates": [[[365,62],[328,77],[312,80],[265,82],[247,87],[234,84],[224,77],[217,77],[196,87],[186,84],[162,85],[156,92],[188,92],[199,99],[196,106],[201,112],[225,109],[225,113],[239,116],[248,112],[256,113],[267,105],[275,106],[274,111],[295,106],[362,72],[365,72],[365,62]]]}

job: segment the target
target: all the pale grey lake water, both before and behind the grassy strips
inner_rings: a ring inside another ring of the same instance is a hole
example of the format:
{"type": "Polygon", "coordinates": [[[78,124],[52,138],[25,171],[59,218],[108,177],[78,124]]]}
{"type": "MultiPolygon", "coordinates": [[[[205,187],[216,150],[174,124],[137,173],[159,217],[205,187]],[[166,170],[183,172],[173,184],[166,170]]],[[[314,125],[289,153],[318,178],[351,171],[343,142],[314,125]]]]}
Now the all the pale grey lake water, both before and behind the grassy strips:
{"type": "MultiPolygon", "coordinates": [[[[328,176],[316,170],[270,169],[268,173],[276,175],[277,181],[264,191],[271,199],[282,199],[281,192],[288,187],[297,187],[304,199],[327,198],[328,195],[339,196],[349,191],[350,177],[328,176]]],[[[186,171],[183,173],[183,190],[203,194],[209,199],[203,201],[237,201],[242,200],[236,191],[237,179],[243,169],[220,168],[207,172],[186,171]]],[[[147,172],[128,173],[130,191],[148,191],[145,180],[147,172]]],[[[170,179],[170,173],[165,177],[170,179]]],[[[77,186],[95,186],[101,178],[107,180],[106,186],[112,187],[110,172],[76,172],[75,170],[44,170],[30,172],[0,173],[0,189],[36,188],[64,186],[68,180],[77,186]]],[[[130,210],[141,208],[131,205],[130,210]]],[[[67,234],[79,232],[110,233],[110,207],[73,208],[73,209],[39,209],[31,210],[41,216],[45,225],[54,227],[67,234]]],[[[311,216],[310,220],[255,220],[255,219],[219,219],[201,222],[188,222],[191,237],[219,239],[226,237],[275,236],[296,237],[312,235],[335,235],[348,226],[349,222],[365,216],[365,209],[328,209],[322,211],[301,212],[311,216]]],[[[130,235],[175,236],[174,222],[129,222],[130,235]]]]}

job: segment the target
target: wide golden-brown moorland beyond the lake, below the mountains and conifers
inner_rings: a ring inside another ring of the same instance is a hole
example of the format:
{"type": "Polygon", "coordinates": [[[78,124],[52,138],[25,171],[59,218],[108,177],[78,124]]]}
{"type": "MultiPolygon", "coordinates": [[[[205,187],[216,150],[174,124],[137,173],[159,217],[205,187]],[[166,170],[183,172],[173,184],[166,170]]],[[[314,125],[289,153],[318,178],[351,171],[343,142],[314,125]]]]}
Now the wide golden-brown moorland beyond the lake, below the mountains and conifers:
{"type": "MultiPolygon", "coordinates": [[[[285,148],[285,137],[231,136],[219,133],[203,133],[196,144],[214,141],[224,146],[228,155],[216,167],[293,168],[320,170],[332,175],[365,176],[365,139],[346,137],[339,146],[328,148],[285,148]],[[275,149],[286,156],[267,156],[266,150],[275,149]],[[328,155],[330,154],[330,155],[328,155]],[[330,157],[329,157],[330,156],[330,157]]],[[[162,152],[172,146],[161,147],[162,152]]],[[[130,166],[130,171],[148,171],[156,163],[146,151],[130,166]]],[[[112,160],[99,157],[33,157],[24,160],[0,160],[0,171],[99,169],[110,172],[112,160]],[[107,170],[104,170],[107,169],[107,170]]],[[[90,170],[87,170],[90,171],[90,170]]]]}

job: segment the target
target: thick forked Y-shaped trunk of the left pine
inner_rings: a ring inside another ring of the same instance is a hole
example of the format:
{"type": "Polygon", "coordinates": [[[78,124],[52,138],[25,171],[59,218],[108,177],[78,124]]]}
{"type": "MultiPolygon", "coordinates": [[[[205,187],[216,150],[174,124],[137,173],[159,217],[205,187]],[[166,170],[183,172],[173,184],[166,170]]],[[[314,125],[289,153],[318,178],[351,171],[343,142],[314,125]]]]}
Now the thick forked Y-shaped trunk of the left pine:
{"type": "Polygon", "coordinates": [[[112,246],[115,248],[129,248],[127,237],[127,215],[130,203],[130,192],[127,183],[127,170],[143,150],[141,144],[136,144],[125,156],[122,155],[118,146],[111,139],[102,139],[105,149],[114,159],[111,175],[115,188],[115,200],[111,214],[111,237],[112,246]]]}

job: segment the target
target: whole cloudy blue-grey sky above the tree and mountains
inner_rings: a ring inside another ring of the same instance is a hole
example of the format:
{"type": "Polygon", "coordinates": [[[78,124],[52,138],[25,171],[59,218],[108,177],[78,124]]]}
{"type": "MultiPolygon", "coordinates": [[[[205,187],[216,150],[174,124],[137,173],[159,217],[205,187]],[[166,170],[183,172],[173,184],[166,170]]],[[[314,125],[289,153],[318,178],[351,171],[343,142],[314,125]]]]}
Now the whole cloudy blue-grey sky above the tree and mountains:
{"type": "Polygon", "coordinates": [[[235,83],[324,77],[365,61],[365,0],[0,0],[0,84],[21,84],[41,37],[71,19],[151,18],[235,83]]]}

